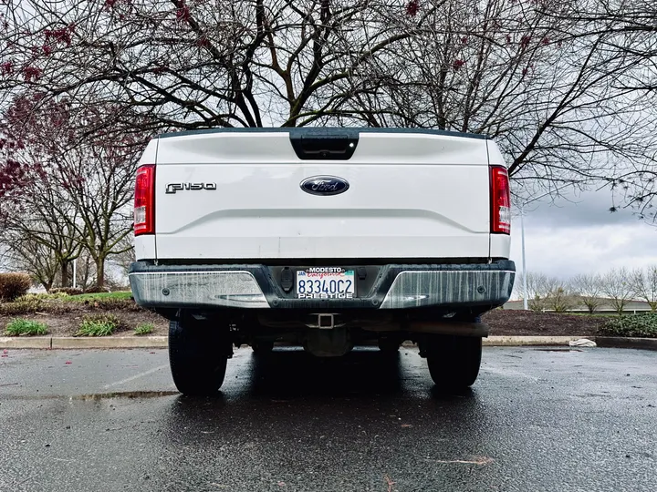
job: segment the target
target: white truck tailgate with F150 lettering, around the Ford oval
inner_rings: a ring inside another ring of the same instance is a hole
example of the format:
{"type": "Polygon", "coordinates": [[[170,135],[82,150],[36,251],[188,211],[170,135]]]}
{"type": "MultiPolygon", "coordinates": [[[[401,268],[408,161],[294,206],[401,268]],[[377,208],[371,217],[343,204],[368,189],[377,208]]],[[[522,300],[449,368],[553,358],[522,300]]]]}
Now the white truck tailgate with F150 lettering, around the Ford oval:
{"type": "Polygon", "coordinates": [[[158,259],[489,255],[484,138],[360,131],[349,159],[299,159],[287,131],[199,132],[159,138],[156,164],[158,259]],[[302,190],[317,176],[349,189],[302,190]]]}

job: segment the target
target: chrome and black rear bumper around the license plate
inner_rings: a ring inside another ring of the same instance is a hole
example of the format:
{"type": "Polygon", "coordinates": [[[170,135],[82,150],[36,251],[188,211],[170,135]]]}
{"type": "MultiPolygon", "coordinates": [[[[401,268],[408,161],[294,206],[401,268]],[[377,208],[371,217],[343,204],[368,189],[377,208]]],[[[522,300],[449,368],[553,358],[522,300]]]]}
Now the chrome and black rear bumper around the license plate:
{"type": "Polygon", "coordinates": [[[297,299],[266,265],[132,263],[135,301],[151,308],[297,308],[381,310],[443,306],[493,309],[511,295],[513,261],[492,264],[381,266],[365,295],[354,299],[297,299]]]}

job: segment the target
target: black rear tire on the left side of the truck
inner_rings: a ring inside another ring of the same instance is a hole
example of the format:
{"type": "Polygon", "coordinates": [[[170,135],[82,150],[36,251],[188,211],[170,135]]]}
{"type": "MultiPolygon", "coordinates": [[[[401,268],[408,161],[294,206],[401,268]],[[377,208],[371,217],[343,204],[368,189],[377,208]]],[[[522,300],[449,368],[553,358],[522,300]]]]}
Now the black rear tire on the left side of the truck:
{"type": "Polygon", "coordinates": [[[223,328],[193,318],[169,323],[169,364],[183,395],[214,395],[224,383],[230,343],[223,328]]]}

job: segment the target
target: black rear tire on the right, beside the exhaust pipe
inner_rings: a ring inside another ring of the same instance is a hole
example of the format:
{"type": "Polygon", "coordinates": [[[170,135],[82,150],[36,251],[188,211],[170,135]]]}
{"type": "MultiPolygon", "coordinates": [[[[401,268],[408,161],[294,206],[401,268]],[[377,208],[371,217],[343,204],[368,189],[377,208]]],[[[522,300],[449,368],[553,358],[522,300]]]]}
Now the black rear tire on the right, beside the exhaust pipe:
{"type": "Polygon", "coordinates": [[[474,384],[481,365],[482,339],[472,336],[433,335],[426,358],[433,383],[459,389],[474,384]]]}

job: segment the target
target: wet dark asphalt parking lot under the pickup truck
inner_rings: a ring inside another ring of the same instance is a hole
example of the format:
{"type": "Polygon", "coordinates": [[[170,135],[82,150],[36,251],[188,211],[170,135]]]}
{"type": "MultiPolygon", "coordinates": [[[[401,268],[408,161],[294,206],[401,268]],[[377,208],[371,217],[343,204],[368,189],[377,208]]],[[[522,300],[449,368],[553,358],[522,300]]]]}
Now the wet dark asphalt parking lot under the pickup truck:
{"type": "Polygon", "coordinates": [[[657,353],[485,348],[441,395],[414,349],[250,349],[220,395],[175,393],[164,350],[10,350],[0,490],[657,490],[657,353]]]}

